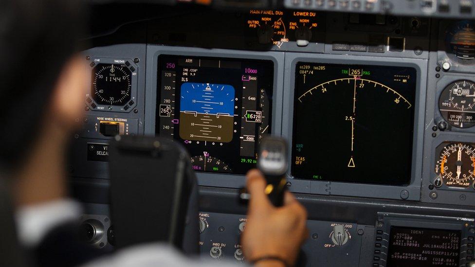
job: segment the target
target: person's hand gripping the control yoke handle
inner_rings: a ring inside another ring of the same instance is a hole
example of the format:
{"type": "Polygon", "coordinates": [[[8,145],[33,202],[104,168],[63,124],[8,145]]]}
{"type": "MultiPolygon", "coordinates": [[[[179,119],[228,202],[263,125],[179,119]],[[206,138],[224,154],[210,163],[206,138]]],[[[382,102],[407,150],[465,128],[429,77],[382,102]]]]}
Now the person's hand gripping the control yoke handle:
{"type": "Polygon", "coordinates": [[[244,256],[250,262],[267,258],[256,266],[293,266],[304,240],[308,236],[307,211],[286,191],[284,205],[274,207],[264,193],[267,183],[258,170],[247,174],[247,191],[251,194],[248,222],[241,236],[244,256]]]}

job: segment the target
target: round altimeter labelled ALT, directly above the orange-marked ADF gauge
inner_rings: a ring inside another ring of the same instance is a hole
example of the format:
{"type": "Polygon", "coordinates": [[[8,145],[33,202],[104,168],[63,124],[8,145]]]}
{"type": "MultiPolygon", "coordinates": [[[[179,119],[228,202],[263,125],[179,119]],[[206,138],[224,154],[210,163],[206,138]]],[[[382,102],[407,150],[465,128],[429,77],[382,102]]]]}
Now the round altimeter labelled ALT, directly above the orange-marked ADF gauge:
{"type": "Polygon", "coordinates": [[[451,83],[442,91],[438,107],[449,124],[472,127],[475,125],[475,83],[467,80],[451,83]]]}

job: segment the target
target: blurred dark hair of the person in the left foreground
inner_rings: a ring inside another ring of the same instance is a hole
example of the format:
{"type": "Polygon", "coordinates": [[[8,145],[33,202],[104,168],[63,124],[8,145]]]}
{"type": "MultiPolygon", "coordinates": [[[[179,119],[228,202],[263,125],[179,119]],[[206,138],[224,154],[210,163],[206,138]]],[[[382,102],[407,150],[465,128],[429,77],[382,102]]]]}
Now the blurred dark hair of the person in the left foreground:
{"type": "Polygon", "coordinates": [[[36,139],[86,19],[78,0],[0,0],[0,6],[0,164],[14,168],[36,139]]]}

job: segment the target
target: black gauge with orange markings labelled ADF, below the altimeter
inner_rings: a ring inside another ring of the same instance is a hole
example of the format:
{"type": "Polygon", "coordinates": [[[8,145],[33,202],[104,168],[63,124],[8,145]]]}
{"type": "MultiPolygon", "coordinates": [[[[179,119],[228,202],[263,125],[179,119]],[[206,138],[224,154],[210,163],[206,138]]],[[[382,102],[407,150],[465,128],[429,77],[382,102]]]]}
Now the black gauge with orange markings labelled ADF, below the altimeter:
{"type": "Polygon", "coordinates": [[[475,177],[475,144],[444,142],[437,147],[434,185],[469,187],[475,177]]]}

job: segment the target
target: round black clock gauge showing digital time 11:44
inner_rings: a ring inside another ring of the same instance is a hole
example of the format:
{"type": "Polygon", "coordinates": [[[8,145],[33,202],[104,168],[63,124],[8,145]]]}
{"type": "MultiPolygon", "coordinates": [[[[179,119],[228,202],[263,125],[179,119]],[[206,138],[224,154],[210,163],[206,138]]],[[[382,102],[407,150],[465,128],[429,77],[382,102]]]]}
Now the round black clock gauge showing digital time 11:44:
{"type": "Polygon", "coordinates": [[[121,64],[98,64],[92,71],[92,98],[99,105],[124,106],[131,98],[132,72],[121,64]]]}

